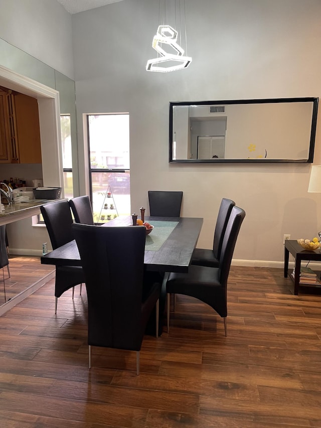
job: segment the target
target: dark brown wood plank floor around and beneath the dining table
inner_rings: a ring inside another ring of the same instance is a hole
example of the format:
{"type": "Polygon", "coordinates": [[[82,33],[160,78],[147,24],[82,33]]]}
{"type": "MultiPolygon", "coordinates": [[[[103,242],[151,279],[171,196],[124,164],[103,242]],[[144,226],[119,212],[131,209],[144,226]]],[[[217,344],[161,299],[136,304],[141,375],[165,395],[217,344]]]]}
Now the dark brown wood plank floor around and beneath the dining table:
{"type": "MultiPolygon", "coordinates": [[[[13,269],[13,267],[12,267],[13,269]]],[[[140,353],[93,348],[86,295],[53,280],[0,318],[2,427],[320,427],[321,297],[293,296],[281,269],[233,267],[228,337],[177,296],[168,335],[140,353]]]]}

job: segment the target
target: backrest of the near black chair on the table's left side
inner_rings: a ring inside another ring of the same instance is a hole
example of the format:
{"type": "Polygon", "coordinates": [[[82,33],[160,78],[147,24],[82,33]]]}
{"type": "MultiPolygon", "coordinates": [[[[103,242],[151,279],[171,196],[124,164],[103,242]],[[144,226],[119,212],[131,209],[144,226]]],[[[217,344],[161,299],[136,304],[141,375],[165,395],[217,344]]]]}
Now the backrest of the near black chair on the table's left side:
{"type": "Polygon", "coordinates": [[[75,239],[71,229],[73,219],[67,199],[42,205],[40,211],[53,249],[75,239]]]}

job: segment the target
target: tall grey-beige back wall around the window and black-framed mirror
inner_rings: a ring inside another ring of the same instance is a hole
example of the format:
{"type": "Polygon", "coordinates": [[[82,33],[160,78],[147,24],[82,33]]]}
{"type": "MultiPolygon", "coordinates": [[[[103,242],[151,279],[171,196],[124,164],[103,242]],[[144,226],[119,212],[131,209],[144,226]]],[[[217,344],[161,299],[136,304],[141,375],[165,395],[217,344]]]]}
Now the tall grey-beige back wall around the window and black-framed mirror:
{"type": "Polygon", "coordinates": [[[307,193],[310,165],[170,165],[169,101],[319,96],[321,2],[185,4],[193,62],[173,73],[145,71],[155,54],[158,0],[124,0],[72,17],[78,138],[83,113],[128,111],[131,210],[148,206],[148,189],[183,190],[182,214],[204,217],[198,246],[210,248],[220,201],[231,198],[246,211],[234,259],[279,265],[283,234],[312,238],[321,229],[321,195],[307,193]]]}

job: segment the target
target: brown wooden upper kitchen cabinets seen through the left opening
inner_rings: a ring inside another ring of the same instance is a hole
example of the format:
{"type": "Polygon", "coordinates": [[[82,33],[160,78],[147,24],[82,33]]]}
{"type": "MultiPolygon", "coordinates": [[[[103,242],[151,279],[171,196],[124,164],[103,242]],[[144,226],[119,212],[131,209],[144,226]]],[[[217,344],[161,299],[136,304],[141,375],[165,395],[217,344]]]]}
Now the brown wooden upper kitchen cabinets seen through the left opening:
{"type": "Polygon", "coordinates": [[[11,91],[0,91],[0,95],[0,163],[41,164],[37,99],[11,91]]]}

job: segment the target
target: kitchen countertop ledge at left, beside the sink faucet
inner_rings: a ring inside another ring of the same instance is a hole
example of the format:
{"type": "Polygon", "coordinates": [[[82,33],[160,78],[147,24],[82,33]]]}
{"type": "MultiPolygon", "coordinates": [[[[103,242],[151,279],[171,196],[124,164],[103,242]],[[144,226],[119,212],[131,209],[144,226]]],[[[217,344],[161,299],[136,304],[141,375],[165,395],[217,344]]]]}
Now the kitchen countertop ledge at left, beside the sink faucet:
{"type": "Polygon", "coordinates": [[[40,207],[58,199],[34,199],[29,202],[20,202],[11,205],[4,205],[5,210],[0,213],[0,226],[13,223],[14,221],[32,217],[40,214],[40,207]]]}

